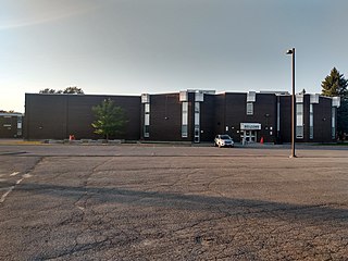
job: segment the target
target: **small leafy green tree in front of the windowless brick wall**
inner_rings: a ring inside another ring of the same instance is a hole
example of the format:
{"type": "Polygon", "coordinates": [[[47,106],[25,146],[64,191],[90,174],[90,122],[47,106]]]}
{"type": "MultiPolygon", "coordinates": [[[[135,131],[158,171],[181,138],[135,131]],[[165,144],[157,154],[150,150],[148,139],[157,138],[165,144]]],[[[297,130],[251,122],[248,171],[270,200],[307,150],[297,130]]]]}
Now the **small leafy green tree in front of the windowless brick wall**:
{"type": "Polygon", "coordinates": [[[96,121],[91,124],[96,134],[103,135],[109,140],[111,135],[120,135],[127,123],[121,107],[116,107],[111,99],[105,99],[101,104],[92,107],[96,121]]]}

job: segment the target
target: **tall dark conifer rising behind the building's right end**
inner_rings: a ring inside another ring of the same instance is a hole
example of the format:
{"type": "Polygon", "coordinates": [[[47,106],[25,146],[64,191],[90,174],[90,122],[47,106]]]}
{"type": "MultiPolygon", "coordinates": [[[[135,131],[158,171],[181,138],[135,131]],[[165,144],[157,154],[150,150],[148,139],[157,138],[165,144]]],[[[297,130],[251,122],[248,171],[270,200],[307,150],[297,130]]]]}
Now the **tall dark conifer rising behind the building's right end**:
{"type": "Polygon", "coordinates": [[[348,133],[348,80],[334,67],[322,82],[322,95],[340,97],[340,107],[337,110],[337,133],[341,138],[348,133]]]}

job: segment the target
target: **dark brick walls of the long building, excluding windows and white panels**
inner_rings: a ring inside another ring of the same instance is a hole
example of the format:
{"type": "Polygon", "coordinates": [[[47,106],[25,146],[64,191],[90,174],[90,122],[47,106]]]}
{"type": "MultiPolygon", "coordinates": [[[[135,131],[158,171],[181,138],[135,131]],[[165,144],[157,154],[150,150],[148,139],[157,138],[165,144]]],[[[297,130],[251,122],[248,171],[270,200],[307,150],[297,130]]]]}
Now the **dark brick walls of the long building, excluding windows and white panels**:
{"type": "MultiPolygon", "coordinates": [[[[140,97],[132,96],[89,96],[89,95],[39,95],[25,97],[25,121],[23,124],[26,139],[65,139],[74,134],[77,139],[101,138],[94,134],[91,108],[102,100],[111,98],[124,109],[128,120],[125,132],[111,138],[127,140],[145,139],[144,104],[140,97]]],[[[290,142],[291,97],[276,97],[271,94],[257,94],[253,102],[253,115],[247,115],[247,94],[226,92],[204,95],[200,102],[200,140],[212,141],[216,134],[227,133],[234,140],[240,141],[240,123],[260,123],[258,141],[290,142]],[[277,134],[277,99],[281,102],[281,130],[277,134]],[[228,130],[226,130],[228,126],[228,130]],[[278,135],[278,136],[277,136],[278,135]]],[[[304,142],[328,142],[332,139],[332,100],[320,98],[314,110],[314,138],[309,139],[310,96],[303,97],[303,139],[304,142]]],[[[16,126],[16,123],[15,123],[16,126]]],[[[188,94],[188,137],[182,138],[182,102],[179,94],[150,96],[150,137],[149,140],[194,141],[195,135],[195,94],[188,94]]],[[[1,133],[1,137],[4,133],[1,133]]]]}

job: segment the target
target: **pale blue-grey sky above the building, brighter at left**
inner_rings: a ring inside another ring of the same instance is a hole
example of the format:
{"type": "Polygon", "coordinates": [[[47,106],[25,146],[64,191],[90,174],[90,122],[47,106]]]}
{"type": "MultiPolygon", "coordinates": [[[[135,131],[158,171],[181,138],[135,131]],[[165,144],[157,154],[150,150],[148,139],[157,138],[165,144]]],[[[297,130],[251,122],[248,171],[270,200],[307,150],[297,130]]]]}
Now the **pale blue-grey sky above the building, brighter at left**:
{"type": "Polygon", "coordinates": [[[321,92],[348,76],[347,0],[0,0],[0,110],[25,92],[321,92]]]}

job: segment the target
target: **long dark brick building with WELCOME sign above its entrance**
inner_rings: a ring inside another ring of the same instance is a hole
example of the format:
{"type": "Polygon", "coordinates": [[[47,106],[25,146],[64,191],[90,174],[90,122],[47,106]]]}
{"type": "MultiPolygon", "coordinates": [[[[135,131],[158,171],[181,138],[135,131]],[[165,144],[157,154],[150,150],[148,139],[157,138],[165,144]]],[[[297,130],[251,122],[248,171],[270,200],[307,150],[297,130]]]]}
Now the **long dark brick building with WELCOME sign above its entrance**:
{"type": "MultiPolygon", "coordinates": [[[[114,138],[157,141],[212,141],[228,134],[235,141],[289,142],[291,96],[287,92],[186,90],[140,96],[26,94],[26,139],[101,138],[94,134],[91,108],[107,98],[128,120],[114,138]]],[[[336,140],[338,98],[296,96],[297,142],[336,140]]]]}

